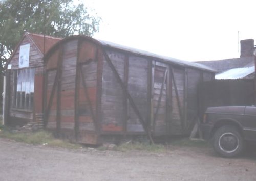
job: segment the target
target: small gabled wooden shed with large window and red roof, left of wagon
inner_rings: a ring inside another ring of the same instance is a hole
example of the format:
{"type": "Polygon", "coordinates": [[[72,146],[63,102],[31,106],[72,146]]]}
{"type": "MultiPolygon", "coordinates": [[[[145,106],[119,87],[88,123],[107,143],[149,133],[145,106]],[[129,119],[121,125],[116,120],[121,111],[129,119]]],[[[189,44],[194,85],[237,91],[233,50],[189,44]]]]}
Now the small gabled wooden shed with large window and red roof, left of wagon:
{"type": "MultiPolygon", "coordinates": [[[[36,122],[37,114],[44,112],[45,90],[44,50],[51,48],[60,38],[25,32],[6,63],[8,97],[5,105],[7,125],[24,126],[36,122]],[[19,67],[20,47],[29,44],[29,64],[19,67]],[[18,85],[18,87],[17,87],[18,85]],[[18,89],[17,89],[18,88],[18,89]]],[[[31,124],[32,125],[32,124],[31,124]]]]}

